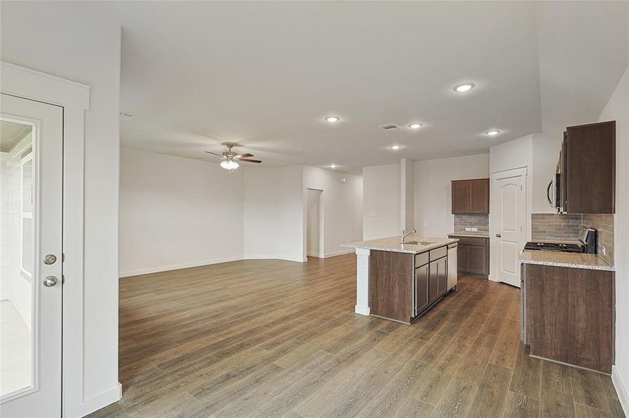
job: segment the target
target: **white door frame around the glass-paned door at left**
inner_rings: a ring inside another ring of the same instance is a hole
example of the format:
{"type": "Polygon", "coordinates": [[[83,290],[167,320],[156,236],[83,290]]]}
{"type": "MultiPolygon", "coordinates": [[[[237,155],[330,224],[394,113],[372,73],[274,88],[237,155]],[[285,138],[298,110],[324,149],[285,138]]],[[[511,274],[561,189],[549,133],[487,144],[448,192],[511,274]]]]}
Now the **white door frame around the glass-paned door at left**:
{"type": "Polygon", "coordinates": [[[84,394],[83,335],[83,175],[84,112],[89,110],[90,87],[0,61],[0,90],[20,98],[56,104],[64,108],[64,307],[63,382],[64,417],[82,417],[117,401],[122,394],[84,394]]]}

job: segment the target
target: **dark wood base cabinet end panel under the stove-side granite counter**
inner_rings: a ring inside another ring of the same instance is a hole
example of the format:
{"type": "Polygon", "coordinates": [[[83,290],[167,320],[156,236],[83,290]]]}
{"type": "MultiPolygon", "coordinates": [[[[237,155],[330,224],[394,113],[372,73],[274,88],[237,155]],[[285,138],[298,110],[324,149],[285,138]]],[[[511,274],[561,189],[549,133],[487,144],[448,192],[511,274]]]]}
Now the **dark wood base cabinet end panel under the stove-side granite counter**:
{"type": "Polygon", "coordinates": [[[614,272],[524,266],[531,355],[605,373],[614,362],[614,272]]]}

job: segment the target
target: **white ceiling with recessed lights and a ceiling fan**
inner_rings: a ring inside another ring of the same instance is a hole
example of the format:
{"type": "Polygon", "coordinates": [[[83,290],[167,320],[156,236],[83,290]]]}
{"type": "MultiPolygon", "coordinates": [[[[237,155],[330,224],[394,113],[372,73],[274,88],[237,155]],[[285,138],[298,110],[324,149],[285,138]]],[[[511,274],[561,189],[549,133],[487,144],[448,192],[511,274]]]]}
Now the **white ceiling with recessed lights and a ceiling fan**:
{"type": "Polygon", "coordinates": [[[262,167],[360,173],[561,134],[598,118],[629,63],[625,1],[89,7],[123,26],[121,111],[136,115],[121,121],[123,146],[214,160],[203,151],[236,142],[262,167]],[[452,91],[461,82],[476,87],[452,91]]]}

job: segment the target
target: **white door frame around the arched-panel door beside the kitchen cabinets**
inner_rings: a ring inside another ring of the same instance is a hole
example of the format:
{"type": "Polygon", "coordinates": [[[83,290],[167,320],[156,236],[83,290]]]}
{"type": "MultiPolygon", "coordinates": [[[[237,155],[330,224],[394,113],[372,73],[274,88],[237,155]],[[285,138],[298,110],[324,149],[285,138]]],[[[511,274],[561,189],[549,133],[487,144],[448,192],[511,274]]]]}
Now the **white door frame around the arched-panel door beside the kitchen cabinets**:
{"type": "Polygon", "coordinates": [[[515,169],[494,171],[491,173],[491,185],[489,185],[489,280],[499,281],[498,275],[498,200],[494,196],[498,196],[498,182],[500,178],[508,178],[515,176],[524,176],[524,199],[526,212],[524,215],[524,230],[526,231],[526,239],[531,238],[531,193],[530,179],[528,178],[528,167],[517,167],[515,169]]]}

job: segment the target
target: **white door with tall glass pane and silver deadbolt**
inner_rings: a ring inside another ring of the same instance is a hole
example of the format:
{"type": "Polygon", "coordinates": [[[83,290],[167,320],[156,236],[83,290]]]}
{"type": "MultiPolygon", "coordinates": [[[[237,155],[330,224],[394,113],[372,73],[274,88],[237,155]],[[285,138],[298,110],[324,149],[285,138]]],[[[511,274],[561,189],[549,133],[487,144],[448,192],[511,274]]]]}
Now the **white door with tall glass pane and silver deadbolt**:
{"type": "Polygon", "coordinates": [[[63,109],[0,102],[0,415],[61,416],[63,109]]]}

